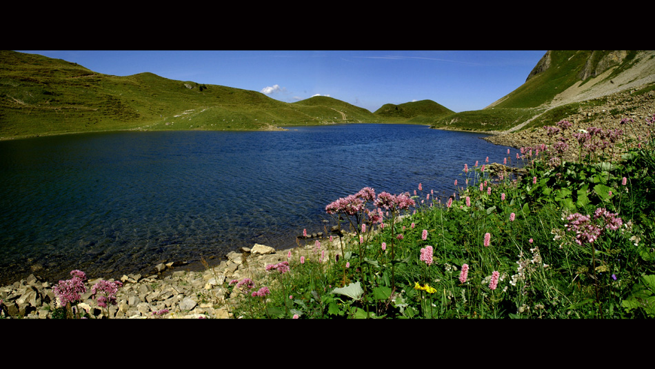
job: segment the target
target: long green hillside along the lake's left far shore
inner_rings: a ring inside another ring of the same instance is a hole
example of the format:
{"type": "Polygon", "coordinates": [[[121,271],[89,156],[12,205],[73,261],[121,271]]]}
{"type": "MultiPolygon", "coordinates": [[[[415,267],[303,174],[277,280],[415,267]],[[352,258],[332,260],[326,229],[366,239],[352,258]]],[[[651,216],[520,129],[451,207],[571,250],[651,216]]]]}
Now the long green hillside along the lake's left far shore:
{"type": "Polygon", "coordinates": [[[250,90],[148,72],[119,77],[61,59],[0,51],[4,139],[130,129],[270,130],[378,120],[368,110],[326,97],[284,103],[250,90]]]}

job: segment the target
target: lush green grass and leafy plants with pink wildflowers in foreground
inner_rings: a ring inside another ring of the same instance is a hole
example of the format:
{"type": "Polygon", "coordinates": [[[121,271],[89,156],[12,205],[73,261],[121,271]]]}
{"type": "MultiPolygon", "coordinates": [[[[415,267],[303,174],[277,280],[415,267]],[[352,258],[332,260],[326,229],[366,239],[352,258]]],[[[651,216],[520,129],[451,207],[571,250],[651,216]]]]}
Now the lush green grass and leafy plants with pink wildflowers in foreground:
{"type": "MultiPolygon", "coordinates": [[[[654,123],[655,116],[644,124],[654,123]]],[[[520,178],[490,174],[481,158],[454,163],[463,170],[447,194],[419,184],[413,195],[364,188],[335,201],[326,210],[340,217],[343,236],[305,245],[307,257],[292,253],[288,268],[271,268],[250,288],[230,283],[243,292],[232,312],[268,319],[655,317],[655,138],[652,130],[643,141],[589,132],[578,136],[579,147],[507,152],[508,164],[518,160],[527,170],[520,178]],[[561,161],[565,150],[578,160],[561,161]]]]}

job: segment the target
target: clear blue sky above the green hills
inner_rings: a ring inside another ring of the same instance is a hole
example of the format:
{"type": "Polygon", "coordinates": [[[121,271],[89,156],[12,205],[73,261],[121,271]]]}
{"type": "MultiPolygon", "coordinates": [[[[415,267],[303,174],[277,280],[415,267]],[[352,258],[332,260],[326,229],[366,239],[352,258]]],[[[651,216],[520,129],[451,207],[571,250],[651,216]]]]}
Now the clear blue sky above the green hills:
{"type": "Polygon", "coordinates": [[[512,92],[545,50],[23,51],[104,74],[161,77],[267,94],[292,103],[334,97],[374,112],[385,103],[430,99],[462,112],[512,92]]]}

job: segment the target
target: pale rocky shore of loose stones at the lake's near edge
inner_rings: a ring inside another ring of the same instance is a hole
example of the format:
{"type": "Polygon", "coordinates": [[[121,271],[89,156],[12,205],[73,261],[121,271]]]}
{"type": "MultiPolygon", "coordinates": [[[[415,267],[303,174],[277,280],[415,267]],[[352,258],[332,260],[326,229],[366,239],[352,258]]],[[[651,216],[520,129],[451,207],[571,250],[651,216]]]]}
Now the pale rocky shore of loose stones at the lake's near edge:
{"type": "MultiPolygon", "coordinates": [[[[338,240],[330,243],[325,238],[314,238],[320,239],[321,250],[332,251],[338,247],[338,240]]],[[[91,298],[92,286],[101,279],[93,278],[85,281],[86,292],[81,295],[78,308],[90,317],[110,319],[239,319],[232,314],[230,306],[243,295],[230,293],[228,283],[245,277],[258,285],[275,283],[269,279],[265,267],[299,260],[301,256],[310,257],[314,242],[312,239],[304,246],[286,250],[255,244],[252,248],[230,252],[218,266],[208,266],[204,271],[177,270],[169,263],[157,266],[157,274],[123,275],[116,305],[105,309],[91,298]]],[[[54,286],[37,275],[30,275],[1,287],[0,318],[52,319],[57,310],[54,286]]]]}

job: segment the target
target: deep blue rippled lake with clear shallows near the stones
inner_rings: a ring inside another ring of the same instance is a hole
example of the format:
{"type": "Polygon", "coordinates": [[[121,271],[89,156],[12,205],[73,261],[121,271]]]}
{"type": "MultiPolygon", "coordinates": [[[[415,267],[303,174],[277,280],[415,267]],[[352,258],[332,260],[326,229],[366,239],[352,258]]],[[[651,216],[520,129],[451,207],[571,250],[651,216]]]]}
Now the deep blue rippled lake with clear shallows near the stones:
{"type": "Polygon", "coordinates": [[[464,163],[507,156],[481,137],[353,124],[3,141],[0,283],[33,270],[115,278],[254,243],[295,246],[303,228],[324,230],[328,203],[363,187],[452,193],[464,163]]]}

